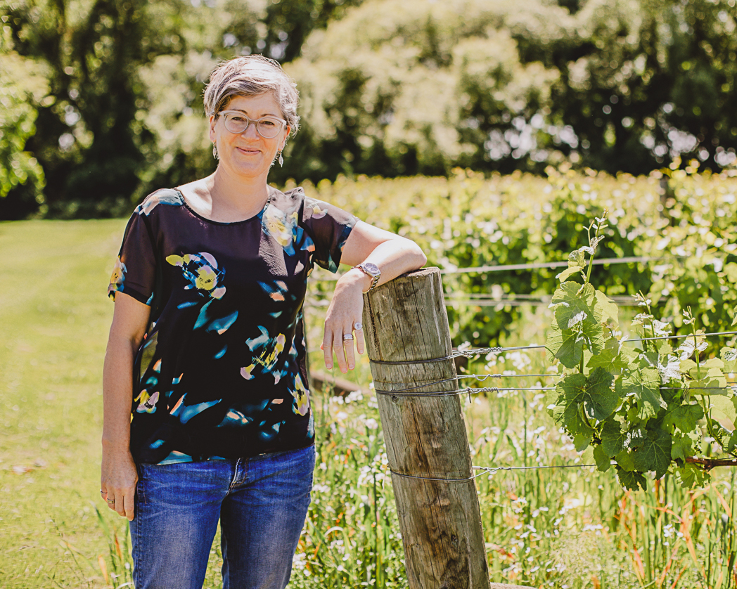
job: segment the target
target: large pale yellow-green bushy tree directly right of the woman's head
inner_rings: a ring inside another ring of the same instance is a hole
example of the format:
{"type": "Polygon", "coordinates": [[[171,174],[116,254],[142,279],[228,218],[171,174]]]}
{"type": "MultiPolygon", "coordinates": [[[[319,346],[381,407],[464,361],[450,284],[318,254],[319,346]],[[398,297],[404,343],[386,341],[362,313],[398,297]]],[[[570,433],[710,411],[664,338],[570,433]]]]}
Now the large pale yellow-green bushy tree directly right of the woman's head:
{"type": "Polygon", "coordinates": [[[351,10],[287,68],[303,96],[296,175],[534,167],[537,130],[523,128],[558,74],[520,63],[510,27],[531,19],[560,31],[566,18],[545,1],[377,0],[351,10]],[[505,136],[514,147],[500,151],[505,136]]]}

